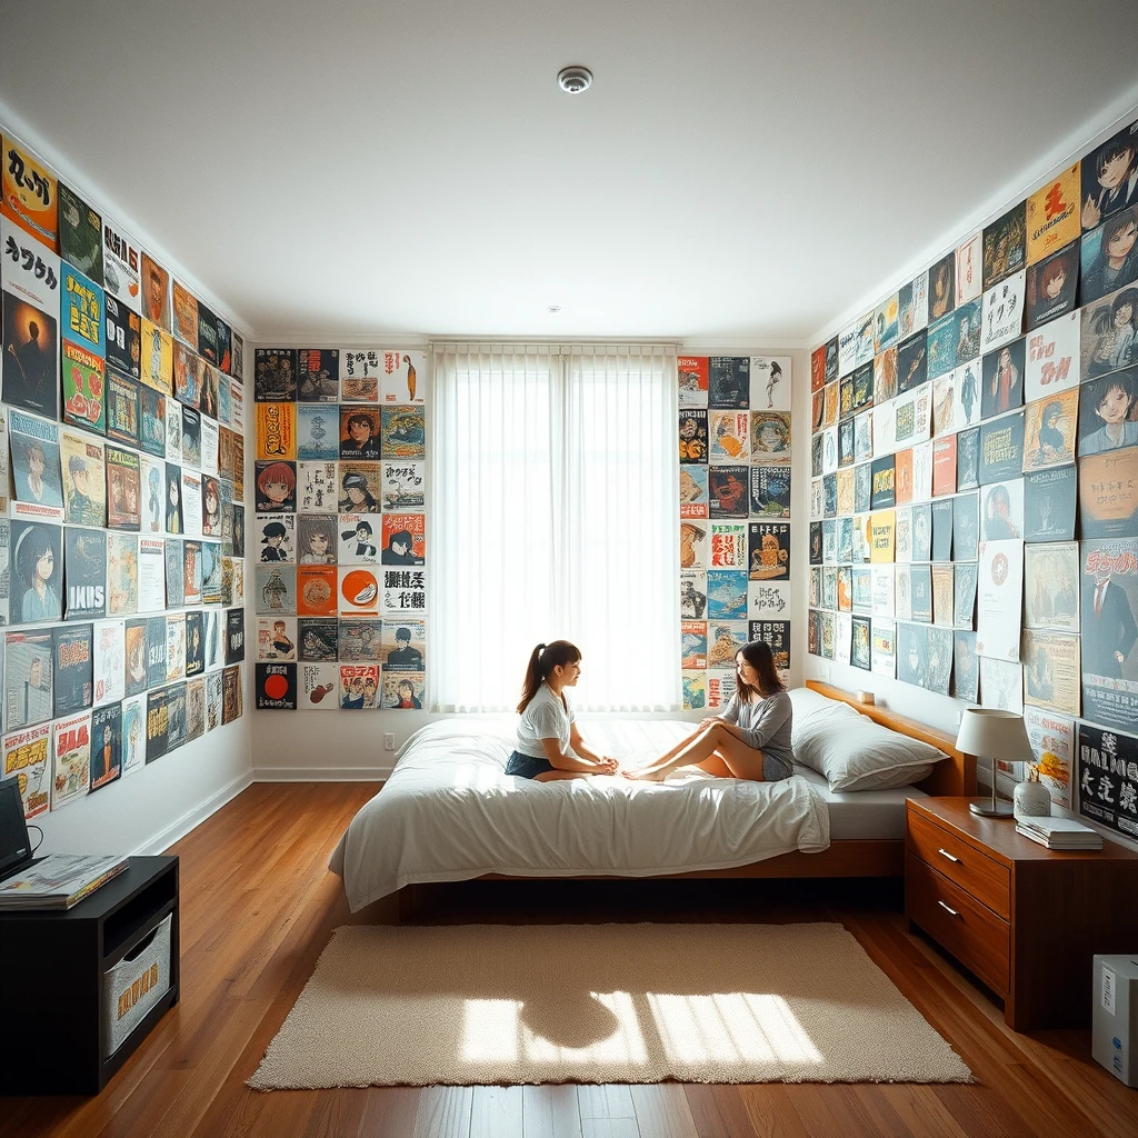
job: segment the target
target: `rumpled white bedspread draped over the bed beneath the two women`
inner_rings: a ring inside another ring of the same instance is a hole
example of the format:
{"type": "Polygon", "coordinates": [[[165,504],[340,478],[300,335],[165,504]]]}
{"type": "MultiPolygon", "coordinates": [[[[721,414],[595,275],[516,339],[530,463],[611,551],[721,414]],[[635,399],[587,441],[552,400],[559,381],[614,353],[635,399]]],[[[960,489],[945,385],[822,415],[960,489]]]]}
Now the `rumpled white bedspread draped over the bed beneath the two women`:
{"type": "MultiPolygon", "coordinates": [[[[830,844],[822,795],[802,777],[510,777],[516,719],[447,719],[415,732],[384,789],[352,819],[329,867],[352,910],[407,884],[726,869],[830,844]]],[[[692,729],[677,720],[582,720],[589,745],[646,762],[692,729]]]]}

